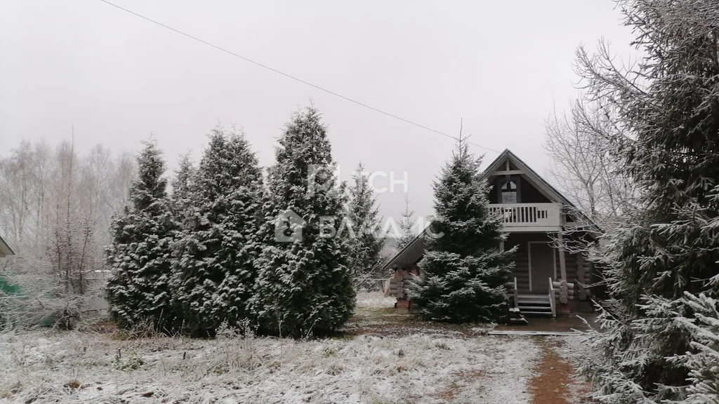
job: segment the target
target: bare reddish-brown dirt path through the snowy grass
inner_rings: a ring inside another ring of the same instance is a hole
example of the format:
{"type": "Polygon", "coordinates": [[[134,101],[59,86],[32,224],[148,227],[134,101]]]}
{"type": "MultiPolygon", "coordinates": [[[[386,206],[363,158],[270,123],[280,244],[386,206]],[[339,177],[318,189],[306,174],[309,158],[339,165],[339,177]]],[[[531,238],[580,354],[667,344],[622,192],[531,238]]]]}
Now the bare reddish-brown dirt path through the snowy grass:
{"type": "Polygon", "coordinates": [[[529,381],[531,404],[590,404],[589,387],[575,377],[574,366],[557,353],[563,342],[547,337],[537,337],[541,357],[534,367],[534,377],[529,381]]]}

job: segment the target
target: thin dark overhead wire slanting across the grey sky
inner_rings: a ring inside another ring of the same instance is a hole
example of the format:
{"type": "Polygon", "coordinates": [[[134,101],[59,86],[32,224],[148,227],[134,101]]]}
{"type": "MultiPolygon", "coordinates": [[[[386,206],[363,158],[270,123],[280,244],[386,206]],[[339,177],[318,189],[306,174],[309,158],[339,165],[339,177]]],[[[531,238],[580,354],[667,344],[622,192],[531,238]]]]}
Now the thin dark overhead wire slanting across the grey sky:
{"type": "MultiPolygon", "coordinates": [[[[249,59],[249,58],[245,58],[245,57],[242,56],[242,55],[239,55],[239,54],[237,54],[237,53],[235,53],[235,52],[232,52],[232,50],[227,50],[226,48],[221,47],[221,46],[219,46],[219,45],[214,45],[214,44],[211,43],[211,42],[207,42],[206,40],[202,40],[201,38],[198,38],[198,37],[195,37],[195,36],[193,36],[193,35],[190,35],[190,34],[188,34],[187,32],[180,31],[180,29],[176,29],[176,28],[170,27],[169,25],[162,24],[162,22],[159,22],[159,21],[156,21],[156,20],[154,20],[154,19],[151,19],[150,17],[145,17],[145,16],[142,15],[142,14],[137,14],[136,12],[133,12],[132,10],[125,9],[125,8],[122,7],[122,6],[118,6],[117,4],[111,3],[110,1],[107,1],[107,0],[99,0],[99,1],[101,1],[101,2],[103,2],[104,4],[107,4],[107,5],[109,5],[109,6],[113,6],[113,7],[115,7],[116,9],[120,9],[120,10],[122,10],[122,11],[124,11],[124,12],[127,12],[127,13],[129,13],[129,14],[132,14],[132,15],[134,15],[135,17],[142,18],[142,19],[144,19],[145,21],[152,22],[152,24],[157,24],[157,25],[159,25],[159,26],[162,27],[162,28],[169,29],[170,31],[176,32],[176,33],[178,33],[178,34],[180,34],[180,35],[183,35],[184,37],[188,37],[188,38],[190,38],[191,40],[195,40],[195,41],[197,41],[197,42],[200,42],[200,43],[202,43],[203,45],[207,45],[207,46],[209,46],[209,47],[214,47],[216,50],[220,50],[220,51],[225,52],[225,53],[227,53],[227,54],[229,54],[229,55],[232,55],[232,56],[234,56],[234,57],[236,57],[236,58],[240,58],[240,59],[244,60],[245,62],[252,63],[253,65],[260,66],[260,68],[264,68],[264,69],[270,70],[270,71],[272,71],[272,72],[274,72],[274,73],[278,73],[279,75],[283,75],[283,76],[285,76],[286,78],[291,78],[291,79],[294,80],[294,81],[298,81],[298,82],[303,83],[303,84],[305,84],[305,85],[307,85],[307,86],[316,88],[316,89],[318,89],[319,91],[324,91],[325,93],[328,93],[328,94],[331,94],[331,95],[333,95],[333,96],[342,98],[342,99],[344,99],[345,101],[349,101],[349,102],[351,102],[351,103],[353,103],[353,104],[357,104],[357,105],[359,105],[359,106],[364,106],[364,107],[367,108],[367,109],[371,109],[372,111],[379,112],[380,114],[383,114],[383,115],[386,115],[386,116],[390,116],[391,118],[398,119],[398,120],[400,120],[400,121],[406,122],[407,124],[411,124],[411,125],[414,125],[414,126],[416,126],[416,127],[425,129],[425,130],[427,130],[427,131],[429,131],[429,132],[434,132],[434,133],[436,133],[436,134],[441,134],[442,136],[444,136],[444,137],[449,137],[450,139],[459,140],[457,137],[454,137],[454,136],[452,136],[451,134],[446,134],[446,133],[440,132],[440,131],[438,131],[438,130],[436,130],[436,129],[432,129],[432,128],[430,128],[430,127],[426,127],[426,126],[424,126],[423,124],[418,124],[418,123],[416,123],[416,122],[414,122],[414,121],[410,121],[409,119],[404,119],[404,118],[401,117],[401,116],[397,116],[397,115],[395,115],[395,114],[390,114],[390,113],[387,112],[387,111],[383,111],[383,110],[381,110],[381,109],[377,109],[377,108],[375,108],[374,106],[367,105],[367,104],[365,104],[365,103],[362,103],[362,102],[360,102],[360,101],[354,100],[354,99],[349,98],[349,97],[347,97],[347,96],[343,96],[342,94],[335,93],[334,91],[331,91],[331,90],[328,90],[328,89],[326,89],[326,88],[324,88],[324,87],[321,87],[321,86],[318,86],[318,85],[316,85],[316,84],[310,83],[309,81],[302,80],[301,78],[298,78],[298,77],[296,77],[296,76],[294,76],[294,75],[285,73],[285,72],[283,72],[283,71],[281,71],[281,70],[277,70],[277,69],[272,68],[272,67],[270,67],[270,66],[268,66],[268,65],[263,65],[262,63],[257,62],[257,61],[255,61],[255,60],[252,60],[252,59],[249,59]]],[[[476,144],[476,143],[472,143],[472,142],[467,142],[467,144],[472,144],[473,146],[481,147],[482,149],[489,150],[490,152],[496,152],[496,153],[499,152],[498,150],[490,149],[489,147],[482,146],[481,144],[476,144]]]]}

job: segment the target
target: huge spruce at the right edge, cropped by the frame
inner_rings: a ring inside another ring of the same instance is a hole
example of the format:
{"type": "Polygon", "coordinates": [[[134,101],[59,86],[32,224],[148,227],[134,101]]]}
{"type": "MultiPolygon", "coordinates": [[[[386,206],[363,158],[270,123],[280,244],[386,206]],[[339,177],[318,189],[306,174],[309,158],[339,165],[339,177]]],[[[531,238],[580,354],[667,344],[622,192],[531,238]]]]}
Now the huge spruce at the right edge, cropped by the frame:
{"type": "MultiPolygon", "coordinates": [[[[705,376],[679,360],[700,346],[675,319],[697,310],[686,293],[716,299],[719,290],[719,4],[621,4],[644,60],[624,71],[606,49],[580,50],[579,65],[592,96],[629,134],[615,139],[616,152],[639,207],[608,238],[615,308],[600,316],[605,330],[592,335],[594,355],[582,369],[603,403],[681,403],[692,377],[705,376]]],[[[716,392],[690,402],[716,403],[716,392]]]]}

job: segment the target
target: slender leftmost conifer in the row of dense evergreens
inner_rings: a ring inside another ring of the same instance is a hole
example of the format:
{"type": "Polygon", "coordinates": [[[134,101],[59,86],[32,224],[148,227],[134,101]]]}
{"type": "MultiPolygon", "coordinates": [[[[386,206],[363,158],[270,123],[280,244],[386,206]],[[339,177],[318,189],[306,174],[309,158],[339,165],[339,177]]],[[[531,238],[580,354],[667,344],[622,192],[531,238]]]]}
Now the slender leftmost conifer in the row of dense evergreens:
{"type": "Polygon", "coordinates": [[[165,162],[155,142],[146,142],[137,157],[137,179],[129,206],[116,214],[106,247],[111,276],[107,300],[118,326],[152,325],[172,331],[178,316],[170,301],[170,243],[176,224],[167,196],[165,162]]]}

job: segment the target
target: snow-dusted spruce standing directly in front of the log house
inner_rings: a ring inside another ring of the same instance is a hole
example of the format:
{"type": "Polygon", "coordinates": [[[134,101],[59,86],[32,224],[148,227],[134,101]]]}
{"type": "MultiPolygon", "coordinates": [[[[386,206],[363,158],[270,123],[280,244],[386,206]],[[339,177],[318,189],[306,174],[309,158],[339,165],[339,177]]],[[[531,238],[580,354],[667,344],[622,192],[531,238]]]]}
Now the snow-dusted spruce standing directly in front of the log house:
{"type": "Polygon", "coordinates": [[[409,297],[423,318],[452,323],[501,322],[508,315],[505,283],[513,250],[500,251],[502,223],[487,208],[480,158],[460,136],[434,187],[434,210],[421,276],[409,297]]]}

